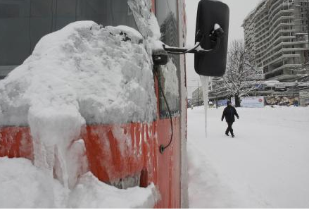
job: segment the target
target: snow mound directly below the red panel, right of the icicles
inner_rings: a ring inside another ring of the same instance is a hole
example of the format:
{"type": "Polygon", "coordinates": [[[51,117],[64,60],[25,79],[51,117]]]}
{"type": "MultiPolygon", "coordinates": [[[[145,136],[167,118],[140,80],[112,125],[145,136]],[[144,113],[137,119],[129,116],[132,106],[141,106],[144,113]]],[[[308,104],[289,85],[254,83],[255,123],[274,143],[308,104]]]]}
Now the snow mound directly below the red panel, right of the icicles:
{"type": "Polygon", "coordinates": [[[156,187],[132,187],[119,190],[100,182],[92,173],[80,178],[79,183],[70,194],[72,208],[153,208],[158,200],[156,187]]]}

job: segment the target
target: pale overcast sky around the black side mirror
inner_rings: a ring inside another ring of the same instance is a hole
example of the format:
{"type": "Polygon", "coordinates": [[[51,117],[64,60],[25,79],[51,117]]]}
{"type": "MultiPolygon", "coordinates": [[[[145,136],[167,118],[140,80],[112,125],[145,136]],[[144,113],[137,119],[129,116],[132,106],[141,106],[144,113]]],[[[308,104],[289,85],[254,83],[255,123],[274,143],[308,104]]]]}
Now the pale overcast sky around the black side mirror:
{"type": "MultiPolygon", "coordinates": [[[[229,42],[234,39],[244,39],[244,30],[241,27],[244,18],[256,7],[261,0],[221,0],[229,6],[229,42]]],[[[194,45],[196,11],[199,0],[186,0],[187,12],[187,44],[194,45]]],[[[191,97],[197,88],[199,76],[194,70],[194,55],[187,54],[187,85],[188,95],[191,97]]]]}

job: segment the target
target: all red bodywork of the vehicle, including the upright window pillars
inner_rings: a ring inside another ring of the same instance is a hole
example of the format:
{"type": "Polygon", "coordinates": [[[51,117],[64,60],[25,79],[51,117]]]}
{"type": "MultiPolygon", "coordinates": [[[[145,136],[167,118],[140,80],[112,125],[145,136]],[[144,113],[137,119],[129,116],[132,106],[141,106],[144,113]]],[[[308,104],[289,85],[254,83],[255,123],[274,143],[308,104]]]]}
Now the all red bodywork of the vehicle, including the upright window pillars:
{"type": "MultiPolygon", "coordinates": [[[[153,12],[158,1],[152,0],[153,12]]],[[[186,25],[184,1],[176,1],[177,42],[184,45],[186,25]]],[[[170,118],[160,116],[160,94],[158,78],[155,79],[157,97],[157,116],[152,123],[124,123],[120,125],[85,125],[80,138],[84,140],[89,170],[105,183],[117,183],[130,177],[137,177],[139,185],[146,187],[154,183],[160,192],[157,208],[186,207],[184,200],[186,180],[182,177],[182,160],[185,159],[187,141],[187,88],[185,58],[179,56],[179,113],[172,117],[172,144],[163,154],[159,146],[170,141],[170,118]],[[121,134],[119,134],[121,130],[121,134]],[[120,142],[124,137],[132,147],[120,142]],[[120,151],[120,147],[122,147],[120,151]],[[123,149],[125,147],[125,149],[123,149]],[[123,152],[125,151],[125,152],[123,152]]],[[[34,160],[34,149],[30,127],[0,127],[0,156],[23,157],[34,160]]]]}

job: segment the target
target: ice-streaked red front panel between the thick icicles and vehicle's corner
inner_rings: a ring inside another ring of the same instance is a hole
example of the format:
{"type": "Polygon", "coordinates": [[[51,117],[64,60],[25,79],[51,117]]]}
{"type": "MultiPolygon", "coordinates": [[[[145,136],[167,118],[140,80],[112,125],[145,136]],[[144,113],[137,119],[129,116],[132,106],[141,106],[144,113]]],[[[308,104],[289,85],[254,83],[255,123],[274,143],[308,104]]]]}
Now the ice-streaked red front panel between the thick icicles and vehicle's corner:
{"type": "Polygon", "coordinates": [[[92,173],[103,182],[115,182],[151,167],[148,155],[156,143],[155,124],[87,125],[82,139],[92,173]]]}

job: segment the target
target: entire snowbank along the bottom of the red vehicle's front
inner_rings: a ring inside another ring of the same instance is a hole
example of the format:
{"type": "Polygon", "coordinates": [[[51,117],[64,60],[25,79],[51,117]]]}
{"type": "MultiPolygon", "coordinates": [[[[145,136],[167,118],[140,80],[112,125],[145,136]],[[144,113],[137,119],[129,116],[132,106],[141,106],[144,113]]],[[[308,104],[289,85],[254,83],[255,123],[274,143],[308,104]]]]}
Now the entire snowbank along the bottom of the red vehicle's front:
{"type": "Polygon", "coordinates": [[[92,173],[82,175],[71,191],[27,159],[0,159],[1,208],[152,208],[154,185],[119,190],[92,173]]]}

